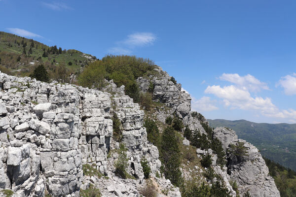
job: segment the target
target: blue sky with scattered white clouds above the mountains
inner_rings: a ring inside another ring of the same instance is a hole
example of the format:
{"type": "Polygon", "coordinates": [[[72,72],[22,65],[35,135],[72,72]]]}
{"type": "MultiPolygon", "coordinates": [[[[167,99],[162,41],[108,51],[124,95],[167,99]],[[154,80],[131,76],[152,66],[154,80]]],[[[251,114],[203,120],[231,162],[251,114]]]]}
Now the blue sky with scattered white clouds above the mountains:
{"type": "Polygon", "coordinates": [[[149,58],[209,119],[296,123],[296,1],[0,0],[0,31],[149,58]]]}

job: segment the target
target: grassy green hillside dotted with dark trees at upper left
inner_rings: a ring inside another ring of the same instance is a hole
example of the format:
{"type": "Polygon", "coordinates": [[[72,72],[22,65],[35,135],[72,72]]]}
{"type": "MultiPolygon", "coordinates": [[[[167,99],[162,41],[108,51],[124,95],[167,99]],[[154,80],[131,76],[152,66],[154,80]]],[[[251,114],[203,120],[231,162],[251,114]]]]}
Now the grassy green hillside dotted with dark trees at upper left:
{"type": "Polygon", "coordinates": [[[47,51],[49,46],[11,33],[0,32],[0,70],[12,75],[28,76],[37,65],[43,64],[49,74],[54,75],[56,68],[59,65],[65,64],[69,72],[77,73],[81,71],[81,67],[92,61],[91,55],[83,54],[77,50],[64,50],[62,54],[49,53],[48,57],[42,57],[43,49],[47,51]],[[34,47],[32,47],[33,53],[29,54],[28,51],[32,41],[34,42],[34,47]],[[23,54],[23,45],[20,44],[20,46],[18,46],[18,42],[27,43],[25,47],[27,55],[23,54]],[[17,61],[19,56],[21,60],[17,61]],[[72,62],[72,66],[68,65],[69,62],[72,62]],[[34,65],[32,63],[34,63],[34,65]]]}

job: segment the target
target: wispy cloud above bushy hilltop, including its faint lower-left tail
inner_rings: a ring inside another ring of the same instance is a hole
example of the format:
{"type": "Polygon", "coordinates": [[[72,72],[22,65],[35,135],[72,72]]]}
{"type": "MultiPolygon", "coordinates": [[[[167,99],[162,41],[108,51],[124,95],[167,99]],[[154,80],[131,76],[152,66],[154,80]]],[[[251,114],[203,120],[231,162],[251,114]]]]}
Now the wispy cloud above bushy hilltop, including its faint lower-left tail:
{"type": "Polygon", "coordinates": [[[136,47],[145,47],[152,45],[156,40],[156,35],[149,32],[132,33],[127,38],[116,43],[115,47],[108,49],[113,54],[131,54],[136,47]]]}

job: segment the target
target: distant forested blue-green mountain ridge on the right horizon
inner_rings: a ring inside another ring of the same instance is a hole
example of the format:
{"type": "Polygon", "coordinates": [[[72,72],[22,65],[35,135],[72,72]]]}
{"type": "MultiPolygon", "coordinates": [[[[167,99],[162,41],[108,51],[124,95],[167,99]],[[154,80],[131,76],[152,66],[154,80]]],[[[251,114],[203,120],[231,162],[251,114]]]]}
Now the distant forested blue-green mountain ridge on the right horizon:
{"type": "Polygon", "coordinates": [[[211,127],[228,127],[254,144],[262,156],[296,170],[296,124],[254,123],[246,120],[208,119],[211,127]]]}

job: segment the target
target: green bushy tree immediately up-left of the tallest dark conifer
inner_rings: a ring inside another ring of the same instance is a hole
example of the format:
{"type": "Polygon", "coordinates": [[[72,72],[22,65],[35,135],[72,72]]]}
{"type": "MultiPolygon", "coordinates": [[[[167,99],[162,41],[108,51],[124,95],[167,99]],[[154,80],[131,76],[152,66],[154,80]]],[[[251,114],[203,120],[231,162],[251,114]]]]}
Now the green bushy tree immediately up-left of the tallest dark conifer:
{"type": "Polygon", "coordinates": [[[144,127],[146,127],[148,141],[159,147],[160,133],[155,122],[152,119],[147,118],[145,119],[144,127]]]}

